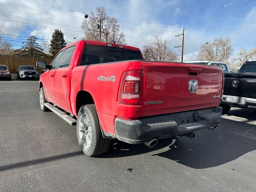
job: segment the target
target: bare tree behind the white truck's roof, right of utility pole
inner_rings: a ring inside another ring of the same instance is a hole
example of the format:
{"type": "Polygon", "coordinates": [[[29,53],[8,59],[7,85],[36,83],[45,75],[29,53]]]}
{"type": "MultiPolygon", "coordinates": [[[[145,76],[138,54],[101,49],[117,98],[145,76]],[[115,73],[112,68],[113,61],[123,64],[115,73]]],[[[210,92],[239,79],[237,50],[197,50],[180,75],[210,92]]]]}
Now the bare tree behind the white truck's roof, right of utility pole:
{"type": "Polygon", "coordinates": [[[198,60],[224,62],[230,58],[232,51],[230,38],[214,38],[213,42],[201,44],[197,58],[198,60]]]}

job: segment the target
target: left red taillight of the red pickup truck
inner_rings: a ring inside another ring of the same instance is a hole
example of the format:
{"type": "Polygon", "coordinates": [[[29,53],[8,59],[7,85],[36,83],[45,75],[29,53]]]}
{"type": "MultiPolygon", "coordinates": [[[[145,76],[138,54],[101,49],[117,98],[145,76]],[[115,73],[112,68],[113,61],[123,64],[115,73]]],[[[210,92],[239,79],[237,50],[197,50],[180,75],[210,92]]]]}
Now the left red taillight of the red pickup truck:
{"type": "Polygon", "coordinates": [[[124,73],[118,102],[129,105],[140,104],[141,76],[141,71],[128,71],[124,73]]]}

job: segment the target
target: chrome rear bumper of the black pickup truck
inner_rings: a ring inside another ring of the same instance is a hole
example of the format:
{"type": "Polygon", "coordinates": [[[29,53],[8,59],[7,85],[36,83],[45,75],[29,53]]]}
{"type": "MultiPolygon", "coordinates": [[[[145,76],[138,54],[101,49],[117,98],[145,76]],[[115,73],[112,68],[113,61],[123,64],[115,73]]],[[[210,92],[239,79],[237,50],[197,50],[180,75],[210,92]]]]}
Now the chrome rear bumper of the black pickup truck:
{"type": "Polygon", "coordinates": [[[221,98],[221,103],[256,109],[256,99],[254,98],[223,95],[221,98]]]}

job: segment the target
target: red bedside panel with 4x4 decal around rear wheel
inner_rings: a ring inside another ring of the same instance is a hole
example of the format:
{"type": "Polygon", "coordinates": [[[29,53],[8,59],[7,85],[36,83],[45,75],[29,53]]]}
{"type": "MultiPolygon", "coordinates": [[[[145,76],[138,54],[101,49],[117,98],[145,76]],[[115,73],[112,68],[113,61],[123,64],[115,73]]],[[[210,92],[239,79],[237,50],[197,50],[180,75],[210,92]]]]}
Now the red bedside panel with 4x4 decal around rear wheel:
{"type": "Polygon", "coordinates": [[[140,106],[128,106],[118,103],[120,83],[127,70],[142,70],[140,61],[112,62],[77,66],[72,70],[71,102],[72,110],[77,116],[76,96],[79,91],[89,92],[98,112],[102,130],[115,134],[114,120],[116,116],[136,119],[140,116],[140,106]],[[99,78],[115,76],[115,81],[99,78]]]}

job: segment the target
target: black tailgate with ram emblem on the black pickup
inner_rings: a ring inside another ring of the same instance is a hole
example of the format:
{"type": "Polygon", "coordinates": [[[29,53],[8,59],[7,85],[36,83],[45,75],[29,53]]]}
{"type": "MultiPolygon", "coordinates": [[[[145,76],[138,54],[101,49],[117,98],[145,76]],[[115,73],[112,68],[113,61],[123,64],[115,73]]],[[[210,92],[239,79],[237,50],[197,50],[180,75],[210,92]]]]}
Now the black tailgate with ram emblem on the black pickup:
{"type": "Polygon", "coordinates": [[[256,74],[225,73],[223,94],[256,98],[256,74]]]}

